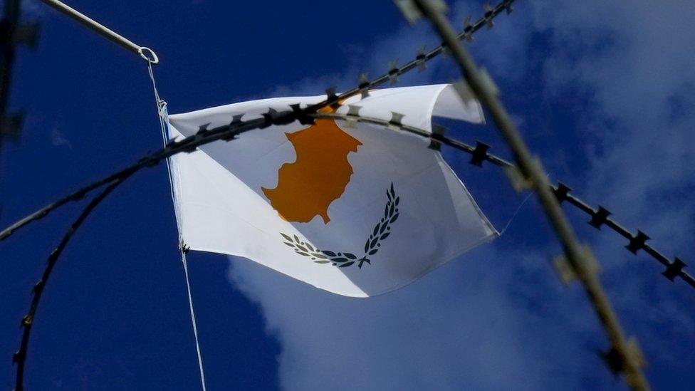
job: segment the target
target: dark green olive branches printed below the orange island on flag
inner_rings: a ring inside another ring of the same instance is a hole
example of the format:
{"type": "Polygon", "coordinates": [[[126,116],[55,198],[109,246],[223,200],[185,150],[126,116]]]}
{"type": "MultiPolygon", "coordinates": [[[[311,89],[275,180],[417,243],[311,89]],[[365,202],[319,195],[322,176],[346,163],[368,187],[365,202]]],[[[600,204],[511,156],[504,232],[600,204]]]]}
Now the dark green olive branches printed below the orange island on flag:
{"type": "Polygon", "coordinates": [[[386,197],[388,201],[384,208],[384,217],[381,218],[374,227],[372,234],[367,238],[365,255],[360,259],[357,259],[357,256],[352,253],[314,249],[306,239],[301,240],[297,235],[289,236],[281,232],[280,234],[286,239],[283,243],[292,247],[296,254],[309,257],[315,264],[330,264],[346,268],[357,263],[357,267],[362,269],[362,264],[365,262],[372,264],[372,261],[367,257],[377,254],[381,247],[381,241],[391,234],[391,224],[398,219],[400,197],[397,197],[396,192],[394,192],[393,182],[391,182],[391,188],[386,190],[386,197]]]}

